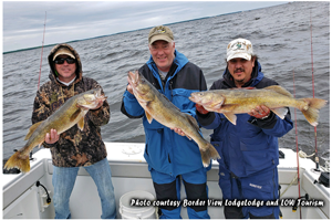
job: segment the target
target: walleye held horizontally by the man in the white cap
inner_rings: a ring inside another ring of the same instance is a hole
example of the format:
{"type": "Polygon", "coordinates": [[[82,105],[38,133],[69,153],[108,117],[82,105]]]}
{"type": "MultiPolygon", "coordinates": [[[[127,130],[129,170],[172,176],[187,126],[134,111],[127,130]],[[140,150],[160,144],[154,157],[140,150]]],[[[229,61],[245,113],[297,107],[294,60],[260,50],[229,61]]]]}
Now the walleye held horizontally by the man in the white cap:
{"type": "Polygon", "coordinates": [[[266,105],[282,119],[288,112],[286,107],[298,108],[312,126],[317,126],[319,109],[326,104],[326,101],[321,98],[293,98],[292,94],[280,85],[257,90],[231,88],[197,92],[191,93],[189,99],[203,105],[209,112],[222,113],[234,125],[237,121],[235,114],[249,113],[258,105],[266,105]]]}

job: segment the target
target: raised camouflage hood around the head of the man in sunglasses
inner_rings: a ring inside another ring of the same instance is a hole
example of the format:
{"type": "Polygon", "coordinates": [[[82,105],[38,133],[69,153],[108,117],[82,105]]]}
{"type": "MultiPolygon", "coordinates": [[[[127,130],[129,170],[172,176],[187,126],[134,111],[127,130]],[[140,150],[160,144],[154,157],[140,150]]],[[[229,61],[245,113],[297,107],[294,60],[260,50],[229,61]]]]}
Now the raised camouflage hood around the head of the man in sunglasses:
{"type": "Polygon", "coordinates": [[[49,65],[50,65],[50,70],[51,70],[51,71],[50,71],[50,75],[49,75],[50,80],[53,81],[54,83],[61,85],[61,83],[59,83],[59,82],[56,81],[56,75],[55,75],[55,70],[54,70],[54,62],[53,62],[53,56],[54,56],[55,52],[56,52],[60,48],[68,48],[68,49],[74,54],[74,56],[76,57],[76,80],[75,80],[74,83],[77,83],[77,82],[82,81],[83,72],[82,72],[81,57],[80,57],[79,53],[77,53],[71,45],[69,45],[69,44],[66,44],[66,43],[62,43],[62,44],[55,45],[55,46],[51,50],[51,52],[50,52],[50,54],[49,54],[49,56],[48,56],[48,61],[49,61],[49,65]]]}

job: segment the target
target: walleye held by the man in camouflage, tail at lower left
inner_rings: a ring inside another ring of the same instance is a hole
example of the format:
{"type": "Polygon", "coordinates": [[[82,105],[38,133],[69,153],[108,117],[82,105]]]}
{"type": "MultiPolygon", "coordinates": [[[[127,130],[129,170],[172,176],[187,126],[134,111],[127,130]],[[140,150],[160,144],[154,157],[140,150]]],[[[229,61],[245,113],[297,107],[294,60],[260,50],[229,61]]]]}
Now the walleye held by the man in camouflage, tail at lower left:
{"type": "Polygon", "coordinates": [[[70,129],[75,124],[83,130],[84,116],[90,108],[95,108],[98,101],[105,101],[107,97],[101,94],[101,88],[90,90],[69,98],[59,109],[56,109],[45,121],[33,124],[24,140],[29,139],[24,147],[14,153],[6,163],[4,168],[18,168],[22,172],[30,171],[29,154],[37,146],[41,146],[45,139],[46,133],[51,128],[56,129],[58,134],[70,129]]]}

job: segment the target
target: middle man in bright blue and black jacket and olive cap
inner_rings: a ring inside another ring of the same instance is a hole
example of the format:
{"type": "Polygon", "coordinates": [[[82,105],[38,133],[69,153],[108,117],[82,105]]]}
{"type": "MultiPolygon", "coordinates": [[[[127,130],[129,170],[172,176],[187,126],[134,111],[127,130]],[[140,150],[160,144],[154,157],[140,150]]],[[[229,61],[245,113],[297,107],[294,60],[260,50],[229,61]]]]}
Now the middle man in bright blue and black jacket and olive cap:
{"type": "MultiPolygon", "coordinates": [[[[207,90],[201,70],[175,50],[174,35],[167,27],[158,25],[149,31],[148,48],[151,59],[138,71],[181,112],[196,117],[195,103],[188,97],[193,92],[207,90]]],[[[157,200],[180,200],[181,177],[187,199],[206,201],[206,172],[210,166],[203,166],[197,144],[184,136],[179,128],[172,130],[156,121],[149,124],[129,84],[123,95],[121,111],[129,118],[143,117],[144,157],[148,164],[157,200]]],[[[180,206],[159,208],[160,218],[180,218],[180,206]]],[[[188,207],[187,211],[189,218],[209,219],[207,203],[188,207]]]]}

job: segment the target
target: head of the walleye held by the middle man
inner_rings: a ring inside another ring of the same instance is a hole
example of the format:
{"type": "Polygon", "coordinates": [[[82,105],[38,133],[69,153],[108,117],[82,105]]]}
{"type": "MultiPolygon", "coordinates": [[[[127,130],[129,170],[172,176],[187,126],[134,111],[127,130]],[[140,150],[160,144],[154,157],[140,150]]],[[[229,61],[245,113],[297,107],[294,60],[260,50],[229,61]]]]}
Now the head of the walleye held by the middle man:
{"type": "Polygon", "coordinates": [[[128,72],[128,77],[127,77],[128,83],[133,87],[134,95],[142,99],[148,98],[148,94],[151,92],[151,84],[146,81],[146,78],[138,72],[135,71],[128,72]]]}

